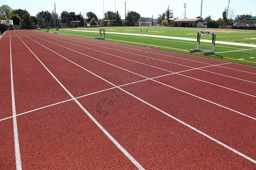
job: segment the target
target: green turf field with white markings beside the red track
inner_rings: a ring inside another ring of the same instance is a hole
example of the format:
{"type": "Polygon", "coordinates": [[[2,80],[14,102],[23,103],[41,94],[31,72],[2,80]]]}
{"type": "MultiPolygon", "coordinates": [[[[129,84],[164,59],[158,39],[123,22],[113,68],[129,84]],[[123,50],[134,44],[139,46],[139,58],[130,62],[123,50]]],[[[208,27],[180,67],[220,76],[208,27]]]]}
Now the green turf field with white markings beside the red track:
{"type": "MultiPolygon", "coordinates": [[[[106,30],[106,39],[104,41],[115,41],[126,44],[152,46],[180,53],[189,53],[188,49],[196,48],[196,31],[207,30],[217,33],[216,41],[237,42],[243,44],[256,45],[256,31],[240,29],[210,29],[210,28],[180,28],[180,27],[147,27],[148,35],[183,37],[195,40],[177,40],[164,39],[162,37],[141,36],[141,27],[104,27],[106,30]],[[118,33],[135,33],[139,35],[122,35],[118,33]]],[[[45,31],[45,30],[41,30],[45,31]]],[[[50,32],[55,32],[50,29],[50,32]]],[[[59,33],[65,33],[85,38],[94,38],[99,36],[99,28],[70,28],[59,29],[59,33]],[[89,32],[83,32],[89,31],[89,32]]],[[[146,35],[146,29],[142,29],[142,34],[146,35]]],[[[212,40],[210,35],[201,35],[201,40],[212,40]]],[[[100,40],[99,40],[100,41],[100,40]]],[[[201,42],[200,49],[211,49],[211,43],[201,42]]],[[[238,46],[229,44],[218,44],[216,42],[213,55],[204,55],[199,53],[189,53],[196,56],[216,58],[230,62],[237,62],[246,65],[256,66],[256,48],[249,46],[238,46]]]]}

